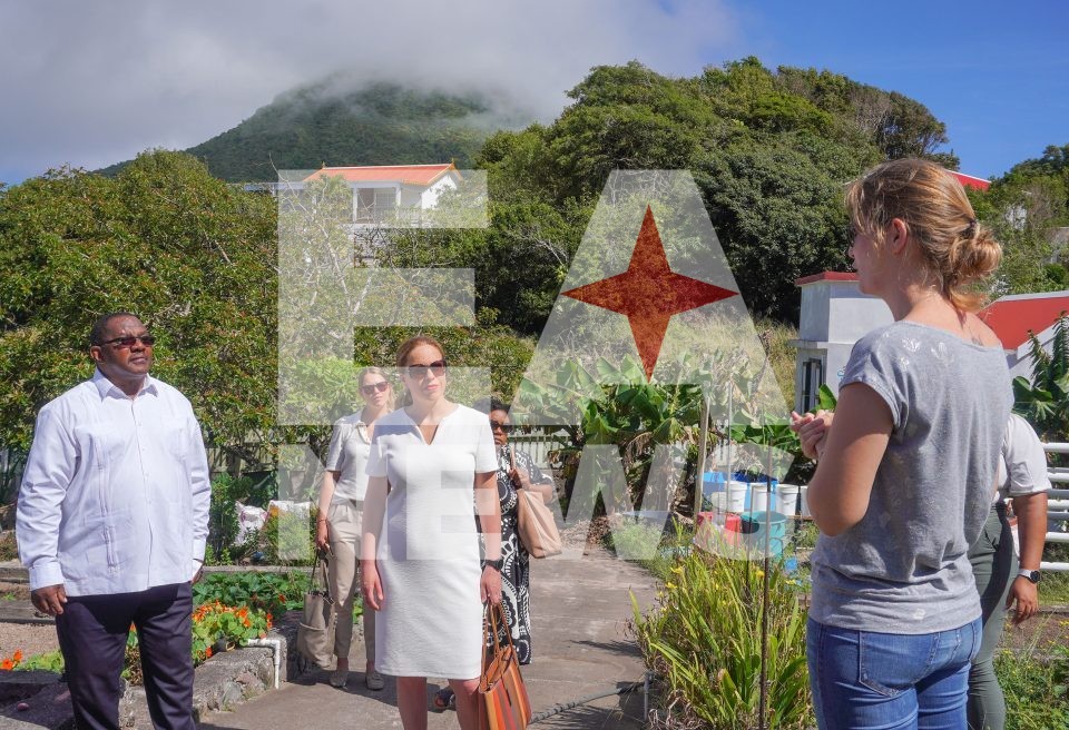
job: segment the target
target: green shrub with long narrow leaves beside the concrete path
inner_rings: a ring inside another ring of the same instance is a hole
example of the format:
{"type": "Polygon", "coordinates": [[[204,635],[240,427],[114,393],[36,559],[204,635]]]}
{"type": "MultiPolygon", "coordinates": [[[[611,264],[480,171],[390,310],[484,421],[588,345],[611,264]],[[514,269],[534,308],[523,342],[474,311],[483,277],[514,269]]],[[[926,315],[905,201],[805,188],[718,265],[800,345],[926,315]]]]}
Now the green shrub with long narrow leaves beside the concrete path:
{"type": "MultiPolygon", "coordinates": [[[[666,727],[758,727],[764,573],[761,563],[679,558],[635,627],[647,665],[664,678],[666,727]]],[[[814,724],[805,664],[805,611],[778,564],[768,575],[766,727],[814,724]]]]}

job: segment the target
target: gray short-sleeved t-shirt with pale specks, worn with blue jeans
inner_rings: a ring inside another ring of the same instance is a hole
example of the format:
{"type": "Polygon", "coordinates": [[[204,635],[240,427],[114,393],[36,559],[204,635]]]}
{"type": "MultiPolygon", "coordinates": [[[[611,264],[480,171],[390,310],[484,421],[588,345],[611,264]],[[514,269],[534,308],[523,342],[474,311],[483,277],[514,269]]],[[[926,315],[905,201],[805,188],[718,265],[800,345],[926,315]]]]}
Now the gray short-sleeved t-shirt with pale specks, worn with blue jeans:
{"type": "Polygon", "coordinates": [[[894,425],[865,516],[817,541],[810,615],[905,634],[969,623],[980,615],[969,546],[991,509],[1013,399],[1006,355],[896,322],[854,345],[851,383],[875,391],[894,425]]]}

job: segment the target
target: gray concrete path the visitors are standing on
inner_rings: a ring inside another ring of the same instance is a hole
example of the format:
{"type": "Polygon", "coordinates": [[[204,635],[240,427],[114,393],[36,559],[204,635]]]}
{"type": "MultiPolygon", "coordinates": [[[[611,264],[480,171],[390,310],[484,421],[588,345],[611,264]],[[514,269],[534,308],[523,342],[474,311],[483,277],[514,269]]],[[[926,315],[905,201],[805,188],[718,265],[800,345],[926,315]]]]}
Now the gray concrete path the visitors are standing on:
{"type": "MultiPolygon", "coordinates": [[[[538,714],[578,698],[615,690],[643,680],[644,665],[627,629],[634,591],[639,605],[648,608],[657,590],[653,575],[636,565],[595,551],[582,560],[532,560],[531,615],[534,661],[523,668],[538,714]]],[[[445,639],[448,641],[448,638],[445,639]]],[[[354,642],[352,665],[363,667],[363,644],[354,642]]],[[[429,680],[430,693],[443,687],[429,680]]],[[[272,730],[316,728],[322,730],[377,730],[400,728],[393,681],[370,692],[363,673],[352,672],[349,687],[337,690],[326,683],[326,673],[284,683],[278,690],[243,704],[234,712],[212,714],[203,730],[272,730]]],[[[643,693],[606,698],[562,711],[538,722],[547,730],[644,727],[643,693]]],[[[457,728],[457,713],[431,712],[429,728],[457,728]]]]}

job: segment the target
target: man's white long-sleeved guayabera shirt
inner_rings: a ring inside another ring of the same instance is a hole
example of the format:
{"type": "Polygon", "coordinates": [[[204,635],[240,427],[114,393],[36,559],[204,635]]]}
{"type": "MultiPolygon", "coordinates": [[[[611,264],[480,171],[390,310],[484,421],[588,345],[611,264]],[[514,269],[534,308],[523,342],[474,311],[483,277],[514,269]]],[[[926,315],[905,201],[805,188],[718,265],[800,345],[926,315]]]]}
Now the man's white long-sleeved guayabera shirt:
{"type": "Polygon", "coordinates": [[[131,399],[97,371],[37,417],[17,521],[30,588],[100,595],[190,580],[210,495],[189,401],[149,376],[131,399]]]}

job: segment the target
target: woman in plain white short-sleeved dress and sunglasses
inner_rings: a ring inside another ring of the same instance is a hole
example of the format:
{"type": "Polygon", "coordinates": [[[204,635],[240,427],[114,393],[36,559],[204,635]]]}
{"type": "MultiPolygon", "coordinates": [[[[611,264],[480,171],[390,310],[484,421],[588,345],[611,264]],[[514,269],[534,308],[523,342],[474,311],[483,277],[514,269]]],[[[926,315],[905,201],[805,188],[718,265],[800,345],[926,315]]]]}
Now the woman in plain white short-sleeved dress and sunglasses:
{"type": "Polygon", "coordinates": [[[398,352],[412,404],[380,418],[367,462],[361,588],[375,616],[375,665],[398,678],[405,730],[426,728],[426,678],[478,727],[482,605],[501,602],[501,513],[486,414],[445,398],[445,355],[430,337],[398,352]],[[474,502],[487,560],[480,561],[474,502]]]}

